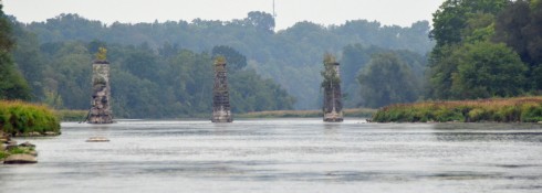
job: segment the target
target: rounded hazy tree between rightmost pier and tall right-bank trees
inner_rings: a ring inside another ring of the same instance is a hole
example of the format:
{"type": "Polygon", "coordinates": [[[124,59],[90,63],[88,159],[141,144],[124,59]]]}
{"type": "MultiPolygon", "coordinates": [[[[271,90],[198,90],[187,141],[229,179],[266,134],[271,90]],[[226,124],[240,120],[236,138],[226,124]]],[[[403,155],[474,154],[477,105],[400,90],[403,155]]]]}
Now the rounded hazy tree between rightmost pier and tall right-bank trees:
{"type": "Polygon", "coordinates": [[[411,69],[394,53],[375,54],[357,79],[366,107],[410,103],[419,96],[419,83],[411,69]]]}

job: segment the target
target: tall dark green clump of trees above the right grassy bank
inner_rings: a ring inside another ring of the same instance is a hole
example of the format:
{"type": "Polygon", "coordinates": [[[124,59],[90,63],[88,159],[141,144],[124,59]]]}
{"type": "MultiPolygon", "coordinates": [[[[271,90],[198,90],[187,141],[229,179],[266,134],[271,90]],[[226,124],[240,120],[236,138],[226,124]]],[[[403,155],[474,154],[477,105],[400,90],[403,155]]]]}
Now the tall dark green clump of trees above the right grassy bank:
{"type": "Polygon", "coordinates": [[[447,0],[434,14],[427,97],[540,94],[542,6],[531,0],[447,0]]]}

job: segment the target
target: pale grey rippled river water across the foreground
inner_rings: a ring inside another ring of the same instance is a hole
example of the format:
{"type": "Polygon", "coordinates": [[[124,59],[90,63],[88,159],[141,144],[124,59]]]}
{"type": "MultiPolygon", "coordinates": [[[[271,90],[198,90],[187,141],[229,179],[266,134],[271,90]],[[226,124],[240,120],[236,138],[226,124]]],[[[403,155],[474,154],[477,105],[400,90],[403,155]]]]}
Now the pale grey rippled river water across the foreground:
{"type": "Polygon", "coordinates": [[[542,192],[542,125],[118,120],[17,140],[39,163],[0,165],[0,192],[542,192]]]}

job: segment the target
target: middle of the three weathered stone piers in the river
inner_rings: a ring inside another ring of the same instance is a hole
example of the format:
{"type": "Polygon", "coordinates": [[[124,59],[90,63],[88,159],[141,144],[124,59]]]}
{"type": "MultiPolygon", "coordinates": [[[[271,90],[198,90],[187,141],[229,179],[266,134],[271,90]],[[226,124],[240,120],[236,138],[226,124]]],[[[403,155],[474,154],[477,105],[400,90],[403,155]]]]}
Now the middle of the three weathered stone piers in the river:
{"type": "Polygon", "coordinates": [[[230,94],[226,58],[218,56],[215,60],[215,86],[212,88],[212,122],[231,122],[233,118],[230,110],[230,94]]]}

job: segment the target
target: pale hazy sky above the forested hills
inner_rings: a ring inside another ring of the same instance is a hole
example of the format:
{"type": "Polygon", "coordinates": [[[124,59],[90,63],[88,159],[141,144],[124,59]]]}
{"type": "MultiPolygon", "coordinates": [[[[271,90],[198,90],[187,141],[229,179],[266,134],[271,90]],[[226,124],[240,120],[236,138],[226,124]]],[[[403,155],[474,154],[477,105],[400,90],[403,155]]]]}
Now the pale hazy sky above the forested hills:
{"type": "MultiPolygon", "coordinates": [[[[409,26],[431,20],[444,0],[275,0],[277,29],[299,21],[329,25],[347,20],[377,20],[409,26]]],[[[3,0],[4,12],[21,22],[45,21],[61,13],[105,23],[243,19],[250,11],[271,13],[273,0],[3,0]]]]}

